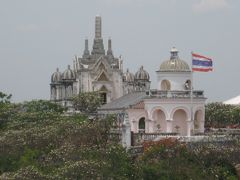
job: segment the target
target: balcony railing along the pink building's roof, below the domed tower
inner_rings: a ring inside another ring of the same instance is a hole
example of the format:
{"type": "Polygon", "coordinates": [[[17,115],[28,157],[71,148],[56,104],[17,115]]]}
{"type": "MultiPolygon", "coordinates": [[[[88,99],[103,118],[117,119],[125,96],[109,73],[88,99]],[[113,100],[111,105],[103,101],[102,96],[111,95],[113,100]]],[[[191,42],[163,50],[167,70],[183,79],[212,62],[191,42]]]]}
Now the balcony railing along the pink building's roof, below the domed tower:
{"type": "MultiPolygon", "coordinates": [[[[161,90],[149,90],[146,92],[149,97],[154,98],[190,98],[191,91],[161,91],[161,90]]],[[[203,91],[193,91],[193,98],[204,98],[203,91]]]]}

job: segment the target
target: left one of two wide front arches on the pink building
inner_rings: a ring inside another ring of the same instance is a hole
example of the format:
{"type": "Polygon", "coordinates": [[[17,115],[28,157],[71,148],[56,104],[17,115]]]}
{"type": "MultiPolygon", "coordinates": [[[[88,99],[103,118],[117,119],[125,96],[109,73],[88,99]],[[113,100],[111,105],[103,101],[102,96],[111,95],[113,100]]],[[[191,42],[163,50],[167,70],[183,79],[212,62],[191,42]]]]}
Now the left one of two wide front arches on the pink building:
{"type": "Polygon", "coordinates": [[[156,132],[166,132],[167,123],[165,113],[161,109],[157,109],[153,112],[153,120],[155,122],[156,132]]]}

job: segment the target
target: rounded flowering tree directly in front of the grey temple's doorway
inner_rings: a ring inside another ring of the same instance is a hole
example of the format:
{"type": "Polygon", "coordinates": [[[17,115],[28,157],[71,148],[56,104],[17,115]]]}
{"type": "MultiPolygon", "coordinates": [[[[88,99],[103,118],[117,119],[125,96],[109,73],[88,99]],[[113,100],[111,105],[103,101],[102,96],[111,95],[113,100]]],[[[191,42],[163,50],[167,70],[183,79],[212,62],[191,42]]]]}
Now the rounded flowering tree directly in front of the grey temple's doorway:
{"type": "Polygon", "coordinates": [[[95,113],[101,105],[101,97],[96,91],[79,93],[77,96],[74,96],[72,100],[73,107],[86,114],[95,113]]]}

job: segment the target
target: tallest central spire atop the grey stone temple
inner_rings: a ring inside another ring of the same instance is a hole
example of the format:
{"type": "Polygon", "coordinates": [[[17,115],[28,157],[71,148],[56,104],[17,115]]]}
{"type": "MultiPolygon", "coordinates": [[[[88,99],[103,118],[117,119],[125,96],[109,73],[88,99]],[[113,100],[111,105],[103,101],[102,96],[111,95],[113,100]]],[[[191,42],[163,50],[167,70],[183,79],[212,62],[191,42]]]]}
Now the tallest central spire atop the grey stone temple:
{"type": "Polygon", "coordinates": [[[100,16],[96,16],[95,19],[95,38],[93,42],[92,55],[105,55],[102,39],[102,19],[100,16]]]}

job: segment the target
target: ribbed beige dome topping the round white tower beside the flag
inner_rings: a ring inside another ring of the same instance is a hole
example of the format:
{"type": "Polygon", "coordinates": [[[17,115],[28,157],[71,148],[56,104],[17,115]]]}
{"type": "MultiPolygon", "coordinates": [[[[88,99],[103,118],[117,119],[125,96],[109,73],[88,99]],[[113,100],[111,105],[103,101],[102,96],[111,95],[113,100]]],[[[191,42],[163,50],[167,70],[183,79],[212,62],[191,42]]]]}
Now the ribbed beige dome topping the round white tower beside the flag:
{"type": "Polygon", "coordinates": [[[178,50],[173,47],[171,49],[171,57],[169,60],[164,61],[161,65],[160,65],[160,71],[162,72],[190,72],[190,68],[188,66],[188,64],[179,59],[178,57],[178,50]]]}

